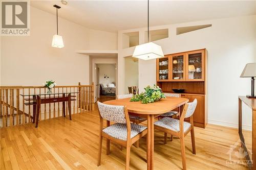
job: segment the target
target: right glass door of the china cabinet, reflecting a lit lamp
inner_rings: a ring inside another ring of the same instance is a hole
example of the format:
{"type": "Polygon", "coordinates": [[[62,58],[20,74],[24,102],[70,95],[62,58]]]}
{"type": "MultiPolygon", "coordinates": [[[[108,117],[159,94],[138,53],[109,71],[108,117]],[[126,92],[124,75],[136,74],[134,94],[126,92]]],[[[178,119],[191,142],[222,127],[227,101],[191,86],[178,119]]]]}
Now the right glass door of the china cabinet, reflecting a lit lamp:
{"type": "Polygon", "coordinates": [[[187,54],[187,80],[188,81],[201,81],[203,77],[203,53],[198,51],[187,54]]]}

